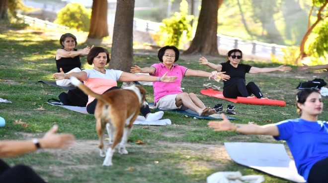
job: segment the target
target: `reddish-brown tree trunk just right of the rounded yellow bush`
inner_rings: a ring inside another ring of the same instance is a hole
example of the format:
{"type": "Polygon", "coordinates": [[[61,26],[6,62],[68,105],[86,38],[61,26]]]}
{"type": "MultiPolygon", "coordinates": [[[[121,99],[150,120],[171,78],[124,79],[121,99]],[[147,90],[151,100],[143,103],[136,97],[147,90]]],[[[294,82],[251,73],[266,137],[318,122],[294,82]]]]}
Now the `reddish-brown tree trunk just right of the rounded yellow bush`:
{"type": "Polygon", "coordinates": [[[108,36],[107,0],[93,0],[88,38],[101,39],[108,36]]]}

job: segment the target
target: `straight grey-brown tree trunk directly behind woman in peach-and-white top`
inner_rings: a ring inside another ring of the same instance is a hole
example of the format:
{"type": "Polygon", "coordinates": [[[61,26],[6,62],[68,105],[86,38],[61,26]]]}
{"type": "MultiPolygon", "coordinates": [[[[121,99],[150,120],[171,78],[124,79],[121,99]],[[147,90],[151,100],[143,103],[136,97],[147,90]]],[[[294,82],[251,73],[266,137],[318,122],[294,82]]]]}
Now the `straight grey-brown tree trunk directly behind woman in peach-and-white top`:
{"type": "Polygon", "coordinates": [[[117,0],[110,68],[130,72],[133,66],[135,0],[117,0]]]}

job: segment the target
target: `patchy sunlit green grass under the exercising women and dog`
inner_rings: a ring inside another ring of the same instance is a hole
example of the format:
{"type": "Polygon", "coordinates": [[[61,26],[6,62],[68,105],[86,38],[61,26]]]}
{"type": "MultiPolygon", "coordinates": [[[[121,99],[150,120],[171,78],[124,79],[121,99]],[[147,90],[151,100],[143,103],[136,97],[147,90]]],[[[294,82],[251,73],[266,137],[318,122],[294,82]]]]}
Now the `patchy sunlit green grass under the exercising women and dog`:
{"type": "MultiPolygon", "coordinates": [[[[129,138],[128,155],[114,154],[113,167],[102,167],[103,158],[97,150],[95,120],[92,115],[83,115],[61,107],[46,103],[49,98],[58,98],[61,88],[38,84],[38,80],[50,80],[56,72],[54,55],[60,47],[58,39],[61,33],[52,37],[41,31],[4,30],[0,35],[0,97],[12,103],[0,103],[0,116],[6,125],[0,128],[0,139],[25,139],[42,137],[51,126],[57,124],[60,133],[72,133],[77,138],[71,149],[41,150],[19,157],[4,158],[10,165],[27,164],[33,167],[45,180],[53,183],[204,183],[206,177],[217,171],[241,171],[242,174],[264,175],[269,183],[289,183],[265,173],[240,166],[227,158],[218,158],[222,150],[210,148],[222,147],[223,142],[277,142],[272,138],[246,136],[235,132],[213,132],[207,127],[207,120],[194,120],[178,114],[165,112],[173,125],[165,127],[135,126],[129,138]],[[42,107],[44,110],[39,110],[42,107]],[[29,127],[23,128],[13,122],[19,120],[29,127]],[[145,144],[136,144],[142,140],[145,144]]],[[[51,33],[55,34],[55,33],[51,33]]],[[[74,33],[75,34],[75,33],[74,33]]],[[[81,40],[82,38],[79,38],[81,40]]],[[[79,42],[79,48],[90,45],[79,42]]],[[[110,47],[105,46],[110,49],[110,47]]],[[[149,51],[149,50],[148,50],[149,51]]],[[[156,50],[154,51],[156,52],[156,50]]],[[[136,55],[134,61],[141,67],[157,62],[153,55],[136,55]]],[[[198,64],[198,58],[186,59],[184,55],[177,64],[191,69],[212,71],[198,64]]],[[[224,57],[211,62],[220,63],[224,57]]],[[[257,67],[275,67],[276,64],[244,61],[257,67]]],[[[86,67],[85,58],[82,59],[86,67]]],[[[254,81],[265,96],[272,99],[285,100],[285,107],[234,104],[238,123],[253,121],[259,125],[285,119],[297,118],[295,108],[295,90],[299,82],[312,80],[313,76],[327,81],[327,72],[297,72],[293,67],[291,73],[257,74],[246,77],[254,81]]],[[[183,79],[184,92],[194,92],[207,106],[213,107],[222,103],[226,109],[231,102],[200,94],[205,83],[223,87],[222,83],[214,83],[207,78],[186,77],[183,79]]],[[[119,83],[121,85],[121,83],[119,83]]],[[[153,88],[145,86],[147,99],[153,101],[153,88]]],[[[324,97],[324,105],[328,104],[324,97]]],[[[327,120],[327,110],[320,116],[327,120]]],[[[224,149],[224,148],[223,148],[224,149]]]]}

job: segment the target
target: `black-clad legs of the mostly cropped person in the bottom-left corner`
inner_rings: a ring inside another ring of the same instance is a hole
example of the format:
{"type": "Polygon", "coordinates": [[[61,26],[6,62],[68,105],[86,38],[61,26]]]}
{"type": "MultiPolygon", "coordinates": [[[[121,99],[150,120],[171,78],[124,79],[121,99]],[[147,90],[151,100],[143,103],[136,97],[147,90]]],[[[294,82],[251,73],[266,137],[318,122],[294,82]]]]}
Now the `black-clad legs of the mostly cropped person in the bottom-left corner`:
{"type": "Polygon", "coordinates": [[[0,183],[46,183],[30,167],[16,165],[9,167],[0,160],[0,183]]]}

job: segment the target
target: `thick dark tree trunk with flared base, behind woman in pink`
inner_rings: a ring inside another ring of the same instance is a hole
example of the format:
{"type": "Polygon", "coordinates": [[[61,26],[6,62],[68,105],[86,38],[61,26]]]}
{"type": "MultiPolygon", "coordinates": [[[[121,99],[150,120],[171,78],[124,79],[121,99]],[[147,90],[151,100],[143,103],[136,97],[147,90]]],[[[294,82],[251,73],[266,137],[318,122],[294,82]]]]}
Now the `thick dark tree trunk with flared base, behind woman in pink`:
{"type": "Polygon", "coordinates": [[[224,0],[202,0],[195,37],[183,54],[218,56],[218,9],[224,0]]]}

